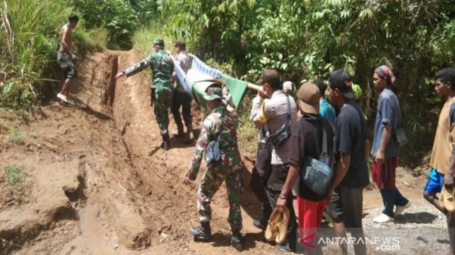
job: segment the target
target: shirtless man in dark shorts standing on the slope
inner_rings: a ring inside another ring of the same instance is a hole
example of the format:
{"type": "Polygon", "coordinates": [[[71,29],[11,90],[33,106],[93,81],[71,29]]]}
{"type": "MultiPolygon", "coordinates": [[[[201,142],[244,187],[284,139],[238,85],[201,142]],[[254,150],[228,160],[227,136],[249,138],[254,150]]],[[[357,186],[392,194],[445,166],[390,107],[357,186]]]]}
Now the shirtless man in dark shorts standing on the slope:
{"type": "Polygon", "coordinates": [[[57,94],[57,98],[69,104],[73,104],[73,102],[66,98],[68,95],[68,88],[70,88],[71,80],[76,77],[75,65],[72,61],[77,59],[77,56],[71,52],[71,33],[72,29],[77,26],[78,21],[79,18],[77,18],[77,15],[71,14],[70,17],[68,17],[68,23],[64,24],[59,32],[60,47],[59,54],[57,55],[57,62],[63,70],[63,75],[65,75],[65,83],[63,84],[60,93],[57,94]]]}

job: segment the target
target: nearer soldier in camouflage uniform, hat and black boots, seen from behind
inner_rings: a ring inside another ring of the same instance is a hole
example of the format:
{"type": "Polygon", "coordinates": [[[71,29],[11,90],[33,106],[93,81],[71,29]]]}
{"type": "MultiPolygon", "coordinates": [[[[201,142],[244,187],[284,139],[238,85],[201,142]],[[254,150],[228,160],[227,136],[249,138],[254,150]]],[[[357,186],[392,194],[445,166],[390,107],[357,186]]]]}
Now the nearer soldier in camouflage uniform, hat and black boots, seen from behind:
{"type": "Polygon", "coordinates": [[[210,141],[217,139],[221,130],[219,150],[221,160],[208,165],[203,173],[197,192],[197,212],[201,226],[191,229],[195,240],[210,240],[212,238],[210,219],[212,210],[210,201],[218,188],[226,180],[229,196],[229,219],[231,224],[231,244],[241,251],[243,249],[240,229],[242,229],[242,215],[240,211],[240,192],[242,189],[242,162],[237,146],[238,120],[235,114],[226,110],[222,102],[222,89],[209,87],[206,91],[207,106],[212,112],[207,116],[201,127],[201,134],[196,143],[190,169],[184,183],[195,180],[201,165],[202,155],[210,141]]]}

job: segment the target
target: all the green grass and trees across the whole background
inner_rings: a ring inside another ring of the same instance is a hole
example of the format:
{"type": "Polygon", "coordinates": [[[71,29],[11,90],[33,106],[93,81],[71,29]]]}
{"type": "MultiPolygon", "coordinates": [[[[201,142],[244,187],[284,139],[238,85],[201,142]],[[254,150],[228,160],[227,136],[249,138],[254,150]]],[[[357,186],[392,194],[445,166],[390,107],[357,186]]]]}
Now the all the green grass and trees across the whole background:
{"type": "MultiPolygon", "coordinates": [[[[360,101],[370,120],[377,96],[371,74],[378,65],[390,65],[410,140],[433,132],[428,119],[434,111],[420,109],[440,107],[429,84],[436,70],[455,63],[450,0],[3,1],[8,9],[2,6],[1,13],[12,25],[3,19],[0,26],[0,105],[13,108],[29,108],[38,95],[52,91],[49,79],[59,77],[58,29],[71,8],[81,17],[77,54],[93,45],[130,49],[134,44],[146,56],[156,37],[168,48],[185,38],[201,59],[249,81],[264,68],[275,68],[296,84],[327,79],[344,68],[362,87],[360,101]]],[[[246,115],[240,118],[247,122],[246,115]]]]}

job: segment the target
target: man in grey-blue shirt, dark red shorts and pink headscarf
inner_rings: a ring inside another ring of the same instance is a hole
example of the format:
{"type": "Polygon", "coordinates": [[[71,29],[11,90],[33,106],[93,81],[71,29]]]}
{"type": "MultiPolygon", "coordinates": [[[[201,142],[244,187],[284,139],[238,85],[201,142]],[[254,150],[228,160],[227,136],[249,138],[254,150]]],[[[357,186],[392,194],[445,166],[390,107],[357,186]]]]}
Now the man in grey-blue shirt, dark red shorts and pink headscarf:
{"type": "Polygon", "coordinates": [[[371,147],[371,155],[374,157],[371,175],[383,196],[385,207],[383,213],[373,219],[376,223],[393,222],[397,215],[410,206],[410,201],[395,186],[399,146],[393,134],[401,125],[401,110],[398,98],[390,89],[394,82],[395,77],[386,65],[381,65],[374,71],[373,84],[380,95],[371,147]]]}

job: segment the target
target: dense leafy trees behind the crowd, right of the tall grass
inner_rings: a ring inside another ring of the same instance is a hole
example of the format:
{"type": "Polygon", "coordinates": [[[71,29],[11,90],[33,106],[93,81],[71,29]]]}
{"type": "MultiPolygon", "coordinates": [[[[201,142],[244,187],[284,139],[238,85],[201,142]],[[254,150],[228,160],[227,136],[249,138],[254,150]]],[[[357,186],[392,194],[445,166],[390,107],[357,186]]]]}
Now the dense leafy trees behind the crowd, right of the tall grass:
{"type": "Polygon", "coordinates": [[[256,81],[263,69],[275,68],[298,84],[348,70],[364,91],[361,103],[370,120],[376,113],[373,70],[390,65],[405,123],[412,125],[406,127],[410,139],[434,132],[428,121],[433,111],[420,109],[439,107],[431,78],[455,63],[455,6],[449,0],[176,0],[159,5],[160,22],[174,37],[189,40],[202,59],[231,65],[242,79],[256,81]]]}

